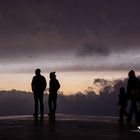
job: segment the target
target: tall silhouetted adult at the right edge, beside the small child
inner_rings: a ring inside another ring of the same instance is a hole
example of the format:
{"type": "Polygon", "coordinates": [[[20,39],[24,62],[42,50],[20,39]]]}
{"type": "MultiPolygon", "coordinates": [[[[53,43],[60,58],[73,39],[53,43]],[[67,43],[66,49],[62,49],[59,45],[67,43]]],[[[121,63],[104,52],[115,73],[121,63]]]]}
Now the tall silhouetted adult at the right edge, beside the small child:
{"type": "Polygon", "coordinates": [[[129,111],[129,122],[131,122],[133,114],[135,114],[135,120],[138,121],[137,118],[137,101],[139,95],[139,79],[135,76],[134,70],[129,71],[128,73],[128,83],[127,83],[127,94],[128,99],[131,101],[130,111],[129,111]]]}

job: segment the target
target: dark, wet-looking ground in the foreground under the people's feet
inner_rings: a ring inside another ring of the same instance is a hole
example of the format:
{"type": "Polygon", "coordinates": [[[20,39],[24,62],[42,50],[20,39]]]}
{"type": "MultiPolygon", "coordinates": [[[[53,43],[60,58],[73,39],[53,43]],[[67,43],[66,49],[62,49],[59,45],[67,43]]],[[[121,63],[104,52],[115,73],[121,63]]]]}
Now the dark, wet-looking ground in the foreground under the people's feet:
{"type": "Polygon", "coordinates": [[[117,118],[57,115],[56,121],[32,116],[0,117],[0,140],[138,140],[136,124],[120,125],[117,118]]]}

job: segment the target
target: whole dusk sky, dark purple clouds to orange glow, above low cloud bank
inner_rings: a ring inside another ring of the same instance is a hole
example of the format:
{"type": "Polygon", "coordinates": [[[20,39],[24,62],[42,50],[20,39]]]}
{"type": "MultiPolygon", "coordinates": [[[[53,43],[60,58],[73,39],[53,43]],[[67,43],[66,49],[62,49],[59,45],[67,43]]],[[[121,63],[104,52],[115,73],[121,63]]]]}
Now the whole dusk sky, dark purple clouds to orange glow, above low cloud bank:
{"type": "Polygon", "coordinates": [[[140,73],[139,0],[0,0],[0,89],[57,71],[64,92],[140,73]]]}

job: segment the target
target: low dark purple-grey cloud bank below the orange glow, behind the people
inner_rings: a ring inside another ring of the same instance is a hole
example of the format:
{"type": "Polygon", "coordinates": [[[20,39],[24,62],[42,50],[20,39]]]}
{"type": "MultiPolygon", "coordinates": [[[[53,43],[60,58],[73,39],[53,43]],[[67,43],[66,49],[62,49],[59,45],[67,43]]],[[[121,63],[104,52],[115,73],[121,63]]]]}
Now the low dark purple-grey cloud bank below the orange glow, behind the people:
{"type": "MultiPolygon", "coordinates": [[[[118,115],[117,106],[119,88],[126,87],[127,79],[108,81],[95,79],[95,84],[101,84],[99,95],[93,87],[74,95],[59,93],[57,113],[83,115],[118,115]]],[[[48,94],[44,96],[45,113],[48,112],[48,94]]],[[[0,91],[0,115],[23,115],[33,113],[33,95],[21,91],[0,91]]]]}

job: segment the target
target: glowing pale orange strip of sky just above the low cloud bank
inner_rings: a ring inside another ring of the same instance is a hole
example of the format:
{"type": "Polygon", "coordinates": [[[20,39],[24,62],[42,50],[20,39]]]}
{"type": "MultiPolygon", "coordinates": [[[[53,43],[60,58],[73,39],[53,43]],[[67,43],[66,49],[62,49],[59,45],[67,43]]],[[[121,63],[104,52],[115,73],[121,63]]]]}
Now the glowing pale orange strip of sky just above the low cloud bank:
{"type": "MultiPolygon", "coordinates": [[[[64,94],[75,94],[84,92],[88,87],[93,87],[93,81],[96,78],[106,80],[116,80],[127,78],[128,71],[91,71],[91,72],[57,72],[57,79],[60,81],[61,88],[64,94]]],[[[140,72],[136,71],[136,75],[140,72]]],[[[49,85],[49,73],[42,72],[49,85]]],[[[0,90],[20,90],[31,92],[31,81],[34,73],[5,73],[0,74],[0,90]]],[[[96,89],[95,89],[96,91],[96,89]]]]}

